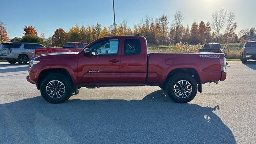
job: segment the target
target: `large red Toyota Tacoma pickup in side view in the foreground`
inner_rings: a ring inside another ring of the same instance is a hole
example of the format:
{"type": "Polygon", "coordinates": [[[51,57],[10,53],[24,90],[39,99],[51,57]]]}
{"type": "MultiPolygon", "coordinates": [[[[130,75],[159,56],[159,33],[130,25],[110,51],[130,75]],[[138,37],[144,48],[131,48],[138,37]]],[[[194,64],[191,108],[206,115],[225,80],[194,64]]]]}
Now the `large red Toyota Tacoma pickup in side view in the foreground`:
{"type": "Polygon", "coordinates": [[[174,102],[191,101],[202,84],[226,79],[222,53],[148,53],[143,36],[109,36],[80,52],[30,58],[27,80],[43,98],[62,103],[81,87],[159,86],[174,102]],[[106,46],[108,45],[108,46],[106,46]]]}

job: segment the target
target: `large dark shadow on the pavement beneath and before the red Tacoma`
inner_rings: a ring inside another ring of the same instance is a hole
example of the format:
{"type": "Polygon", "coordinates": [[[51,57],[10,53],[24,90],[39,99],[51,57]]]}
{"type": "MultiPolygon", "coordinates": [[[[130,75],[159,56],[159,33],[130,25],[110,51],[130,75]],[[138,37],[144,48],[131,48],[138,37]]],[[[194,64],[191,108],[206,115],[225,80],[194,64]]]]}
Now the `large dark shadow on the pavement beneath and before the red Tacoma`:
{"type": "Polygon", "coordinates": [[[37,96],[0,104],[0,143],[236,143],[219,108],[176,104],[163,90],[130,101],[37,96]]]}

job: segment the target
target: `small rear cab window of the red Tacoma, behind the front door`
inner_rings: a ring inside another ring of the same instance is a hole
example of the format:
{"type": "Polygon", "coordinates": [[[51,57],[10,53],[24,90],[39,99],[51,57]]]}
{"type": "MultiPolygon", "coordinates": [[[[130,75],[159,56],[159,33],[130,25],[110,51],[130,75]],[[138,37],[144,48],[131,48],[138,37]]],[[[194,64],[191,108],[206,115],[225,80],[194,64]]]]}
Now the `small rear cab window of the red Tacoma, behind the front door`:
{"type": "Polygon", "coordinates": [[[126,39],[124,40],[124,55],[140,54],[140,40],[126,39]]]}

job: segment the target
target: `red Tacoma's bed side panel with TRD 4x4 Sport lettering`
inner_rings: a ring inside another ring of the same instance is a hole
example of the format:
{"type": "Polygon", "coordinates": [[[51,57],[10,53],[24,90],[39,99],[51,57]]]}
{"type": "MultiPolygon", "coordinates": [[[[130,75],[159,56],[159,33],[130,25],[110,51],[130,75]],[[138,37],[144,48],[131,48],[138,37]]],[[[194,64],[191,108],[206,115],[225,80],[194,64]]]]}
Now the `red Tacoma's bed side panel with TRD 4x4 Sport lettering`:
{"type": "Polygon", "coordinates": [[[221,77],[222,53],[150,53],[148,54],[148,83],[163,82],[168,72],[177,68],[196,70],[202,84],[221,77]]]}

